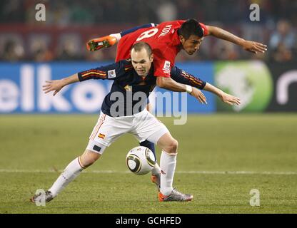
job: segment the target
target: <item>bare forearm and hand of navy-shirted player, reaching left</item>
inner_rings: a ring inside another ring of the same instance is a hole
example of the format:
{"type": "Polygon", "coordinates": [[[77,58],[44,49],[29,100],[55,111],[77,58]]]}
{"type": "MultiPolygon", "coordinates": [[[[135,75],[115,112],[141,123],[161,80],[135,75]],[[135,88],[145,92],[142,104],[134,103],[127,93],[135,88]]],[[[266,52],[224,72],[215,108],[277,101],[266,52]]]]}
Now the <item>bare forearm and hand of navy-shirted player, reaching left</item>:
{"type": "Polygon", "coordinates": [[[44,84],[43,89],[44,93],[49,93],[51,91],[54,91],[53,95],[56,95],[57,93],[59,93],[59,91],[64,87],[67,86],[71,83],[76,83],[79,81],[79,76],[77,73],[75,73],[72,76],[69,76],[67,78],[62,78],[59,80],[51,80],[51,81],[46,81],[46,83],[44,84]]]}

